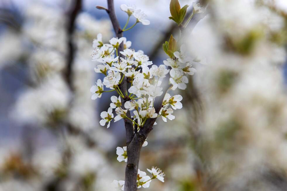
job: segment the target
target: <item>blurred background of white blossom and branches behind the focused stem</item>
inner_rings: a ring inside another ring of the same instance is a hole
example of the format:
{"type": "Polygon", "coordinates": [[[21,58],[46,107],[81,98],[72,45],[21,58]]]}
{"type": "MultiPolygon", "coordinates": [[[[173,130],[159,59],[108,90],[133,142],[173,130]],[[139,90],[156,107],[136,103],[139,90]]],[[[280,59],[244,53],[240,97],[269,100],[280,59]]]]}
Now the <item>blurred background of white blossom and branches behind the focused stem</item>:
{"type": "MultiPolygon", "coordinates": [[[[169,0],[116,0],[135,4],[150,25],[124,33],[131,48],[154,64],[162,43],[179,29],[169,0]]],[[[192,2],[180,0],[181,6],[192,2]]],[[[146,190],[287,190],[285,0],[210,0],[195,15],[184,42],[200,58],[176,119],[157,120],[142,148],[140,170],[166,174],[146,190]],[[198,23],[197,23],[198,22],[198,23]],[[204,62],[203,62],[204,61],[204,62]]],[[[111,191],[124,180],[123,121],[99,125],[112,92],[91,100],[92,41],[114,36],[104,0],[0,1],[0,190],[111,191]]],[[[131,19],[130,23],[135,22],[131,19]]],[[[170,93],[170,92],[169,92],[170,93]]],[[[144,189],[144,188],[140,188],[144,189]]]]}

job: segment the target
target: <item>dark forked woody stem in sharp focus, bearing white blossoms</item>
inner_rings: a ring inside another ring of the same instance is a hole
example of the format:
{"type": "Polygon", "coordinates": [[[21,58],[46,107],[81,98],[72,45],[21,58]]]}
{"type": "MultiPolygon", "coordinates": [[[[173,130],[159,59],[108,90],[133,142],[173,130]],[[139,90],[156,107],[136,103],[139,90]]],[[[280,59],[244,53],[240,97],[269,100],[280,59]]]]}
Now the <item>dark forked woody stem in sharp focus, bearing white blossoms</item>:
{"type": "MultiPolygon", "coordinates": [[[[123,37],[123,30],[121,29],[118,20],[116,18],[115,10],[114,10],[114,1],[107,0],[108,9],[105,9],[109,14],[111,23],[113,25],[114,31],[118,38],[123,37]]],[[[193,20],[193,19],[192,19],[193,20]]],[[[118,47],[118,55],[121,56],[120,51],[123,51],[123,43],[118,47]]],[[[163,94],[160,97],[157,97],[154,101],[154,108],[156,113],[159,113],[161,109],[161,104],[164,99],[164,95],[169,89],[169,75],[163,80],[162,86],[164,87],[163,94]]],[[[127,92],[127,80],[126,77],[123,78],[121,85],[119,85],[121,92],[127,92]]],[[[128,95],[124,95],[125,98],[121,99],[122,108],[124,108],[124,104],[129,100],[128,95]]],[[[128,118],[131,118],[130,111],[126,113],[128,118]]],[[[142,144],[145,142],[149,132],[151,132],[154,122],[157,118],[149,118],[145,121],[143,127],[140,128],[140,131],[137,132],[137,125],[135,125],[135,131],[133,131],[133,122],[128,120],[128,118],[124,119],[125,128],[126,128],[126,138],[127,138],[127,154],[128,154],[128,162],[126,166],[126,177],[125,177],[125,190],[124,191],[136,191],[137,190],[137,175],[138,175],[138,164],[140,160],[140,150],[142,148],[142,144]]]]}

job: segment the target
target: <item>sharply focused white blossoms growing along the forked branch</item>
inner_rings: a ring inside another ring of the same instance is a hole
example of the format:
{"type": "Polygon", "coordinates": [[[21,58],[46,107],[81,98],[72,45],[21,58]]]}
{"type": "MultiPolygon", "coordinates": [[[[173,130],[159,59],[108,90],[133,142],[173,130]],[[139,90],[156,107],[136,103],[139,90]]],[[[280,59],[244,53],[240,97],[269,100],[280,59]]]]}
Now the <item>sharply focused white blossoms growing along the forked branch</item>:
{"type": "MultiPolygon", "coordinates": [[[[135,6],[121,5],[121,10],[128,14],[128,21],[122,31],[131,29],[138,22],[144,25],[149,24],[149,21],[145,20],[146,15],[141,10],[136,9],[135,6]],[[131,15],[137,19],[136,23],[126,29],[131,15]]],[[[112,120],[116,122],[125,119],[133,123],[135,131],[139,131],[149,118],[156,119],[161,116],[164,122],[167,122],[167,119],[175,119],[175,116],[172,115],[173,110],[182,108],[182,96],[171,96],[164,92],[161,83],[167,77],[171,84],[169,89],[186,89],[188,78],[185,74],[194,75],[196,69],[193,68],[192,64],[197,60],[187,55],[185,45],[181,45],[180,50],[178,50],[176,40],[171,36],[169,43],[166,42],[165,50],[169,58],[160,65],[153,64],[142,50],[135,51],[130,48],[131,42],[127,41],[125,37],[114,37],[109,40],[109,43],[104,43],[102,34],[98,34],[92,46],[94,47],[92,61],[97,64],[94,71],[105,76],[103,80],[98,79],[97,83],[91,87],[92,99],[100,98],[104,92],[116,91],[118,93],[118,97],[111,97],[108,111],[101,113],[100,125],[104,126],[107,123],[107,128],[109,128],[112,120]],[[121,45],[123,45],[123,49],[119,51],[121,45]],[[121,88],[123,82],[128,83],[128,89],[123,90],[121,88]],[[106,88],[108,90],[105,90],[106,88]],[[154,108],[154,101],[156,97],[163,96],[163,93],[165,95],[162,107],[157,113],[154,108]],[[115,116],[113,109],[116,113],[115,116]],[[127,114],[130,112],[132,113],[131,116],[127,114]]],[[[142,146],[147,146],[147,141],[142,146]]],[[[119,162],[128,161],[126,146],[117,147],[116,154],[119,162]]],[[[164,173],[160,169],[152,167],[151,170],[147,170],[152,174],[152,178],[147,176],[145,172],[138,170],[138,188],[148,188],[149,183],[154,178],[164,182],[164,173]]],[[[113,184],[119,190],[124,188],[124,181],[115,180],[113,184]]]]}

